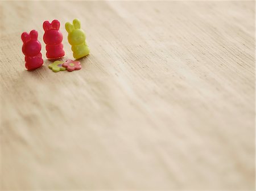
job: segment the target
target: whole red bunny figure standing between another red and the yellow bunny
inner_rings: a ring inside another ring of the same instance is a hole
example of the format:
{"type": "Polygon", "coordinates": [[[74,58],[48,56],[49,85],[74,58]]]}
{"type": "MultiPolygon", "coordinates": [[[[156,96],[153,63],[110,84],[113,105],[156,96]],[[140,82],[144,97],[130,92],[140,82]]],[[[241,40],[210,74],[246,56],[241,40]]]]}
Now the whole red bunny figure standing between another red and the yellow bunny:
{"type": "Polygon", "coordinates": [[[46,20],[43,23],[44,28],[44,43],[46,43],[46,57],[49,59],[62,58],[65,55],[63,50],[63,40],[62,33],[59,31],[60,22],[59,20],[53,20],[49,23],[46,20]]]}

